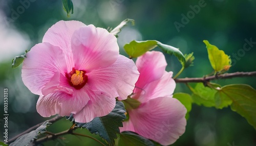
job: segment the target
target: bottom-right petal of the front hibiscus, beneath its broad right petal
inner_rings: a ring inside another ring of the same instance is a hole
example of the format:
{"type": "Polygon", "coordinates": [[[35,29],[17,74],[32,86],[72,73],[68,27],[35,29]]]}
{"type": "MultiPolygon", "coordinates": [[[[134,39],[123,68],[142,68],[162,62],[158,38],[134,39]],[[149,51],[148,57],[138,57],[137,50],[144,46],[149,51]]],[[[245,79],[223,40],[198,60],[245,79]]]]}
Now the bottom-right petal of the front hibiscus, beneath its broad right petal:
{"type": "Polygon", "coordinates": [[[109,114],[116,105],[116,99],[110,98],[110,95],[101,91],[90,91],[90,101],[84,108],[74,114],[75,121],[78,123],[88,123],[95,117],[105,116],[109,114]]]}

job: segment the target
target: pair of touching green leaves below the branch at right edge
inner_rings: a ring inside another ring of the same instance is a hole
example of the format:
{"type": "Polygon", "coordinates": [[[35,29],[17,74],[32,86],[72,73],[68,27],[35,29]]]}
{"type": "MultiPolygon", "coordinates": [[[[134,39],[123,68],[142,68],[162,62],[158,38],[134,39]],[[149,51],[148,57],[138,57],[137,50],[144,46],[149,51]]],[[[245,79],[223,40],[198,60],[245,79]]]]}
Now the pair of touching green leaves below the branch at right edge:
{"type": "Polygon", "coordinates": [[[231,84],[221,87],[218,84],[209,83],[210,87],[204,87],[198,83],[193,92],[192,99],[198,105],[205,107],[216,107],[222,109],[231,107],[245,117],[249,124],[256,129],[256,90],[246,84],[231,84]]]}

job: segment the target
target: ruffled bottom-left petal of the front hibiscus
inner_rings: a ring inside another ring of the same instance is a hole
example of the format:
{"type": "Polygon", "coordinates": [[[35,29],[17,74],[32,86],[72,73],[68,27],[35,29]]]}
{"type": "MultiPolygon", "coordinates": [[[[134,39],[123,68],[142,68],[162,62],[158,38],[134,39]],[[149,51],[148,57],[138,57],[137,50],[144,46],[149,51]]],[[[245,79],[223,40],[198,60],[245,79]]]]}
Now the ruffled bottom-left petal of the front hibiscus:
{"type": "Polygon", "coordinates": [[[36,104],[37,112],[44,117],[59,114],[61,116],[78,113],[87,105],[89,95],[84,90],[76,90],[73,94],[56,91],[41,95],[36,104]]]}

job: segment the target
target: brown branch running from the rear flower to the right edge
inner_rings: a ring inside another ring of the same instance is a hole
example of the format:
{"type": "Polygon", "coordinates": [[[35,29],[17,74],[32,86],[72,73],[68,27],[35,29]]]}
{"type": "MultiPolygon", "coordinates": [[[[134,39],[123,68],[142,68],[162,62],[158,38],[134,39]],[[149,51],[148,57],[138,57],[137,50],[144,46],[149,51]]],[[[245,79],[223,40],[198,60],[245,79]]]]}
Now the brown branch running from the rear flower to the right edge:
{"type": "Polygon", "coordinates": [[[237,78],[237,77],[256,77],[256,71],[251,71],[251,72],[233,72],[230,74],[222,74],[218,75],[216,74],[215,76],[209,76],[209,77],[204,77],[204,78],[180,78],[180,79],[175,79],[176,83],[206,83],[211,80],[220,80],[220,79],[231,79],[231,78],[237,78]]]}

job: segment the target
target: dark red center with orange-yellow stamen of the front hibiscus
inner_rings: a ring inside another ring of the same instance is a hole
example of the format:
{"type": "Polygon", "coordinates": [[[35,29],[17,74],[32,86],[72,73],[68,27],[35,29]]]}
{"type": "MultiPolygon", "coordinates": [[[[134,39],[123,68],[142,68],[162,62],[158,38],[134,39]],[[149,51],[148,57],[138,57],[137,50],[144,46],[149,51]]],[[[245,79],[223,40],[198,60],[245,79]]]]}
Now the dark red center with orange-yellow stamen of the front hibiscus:
{"type": "Polygon", "coordinates": [[[88,81],[86,71],[76,70],[74,67],[72,71],[66,73],[66,77],[68,78],[69,84],[75,89],[81,89],[88,81]]]}

